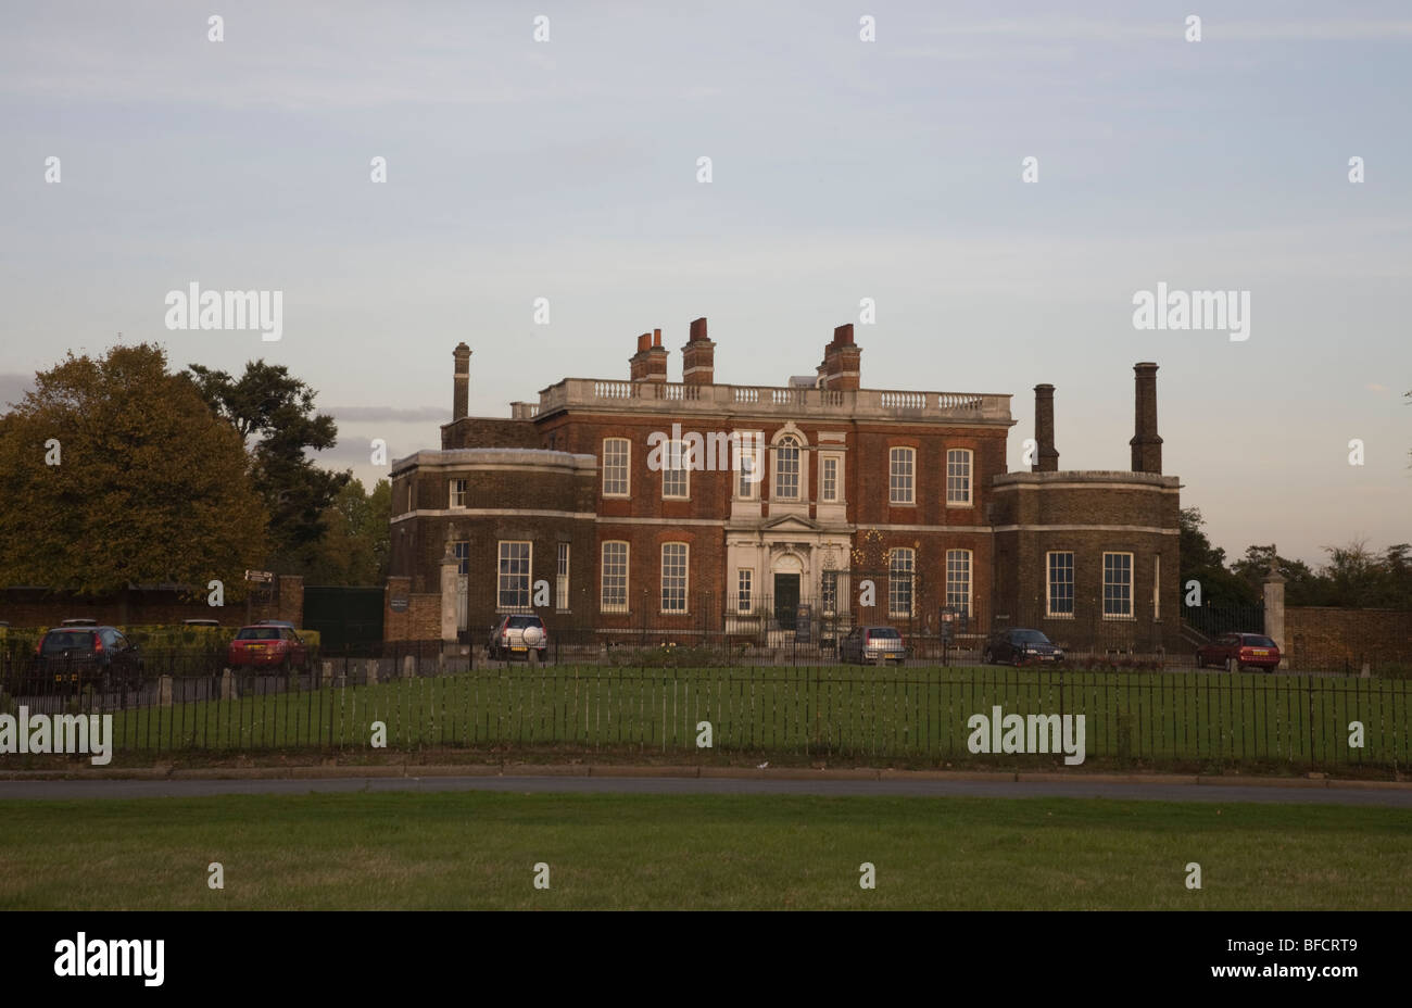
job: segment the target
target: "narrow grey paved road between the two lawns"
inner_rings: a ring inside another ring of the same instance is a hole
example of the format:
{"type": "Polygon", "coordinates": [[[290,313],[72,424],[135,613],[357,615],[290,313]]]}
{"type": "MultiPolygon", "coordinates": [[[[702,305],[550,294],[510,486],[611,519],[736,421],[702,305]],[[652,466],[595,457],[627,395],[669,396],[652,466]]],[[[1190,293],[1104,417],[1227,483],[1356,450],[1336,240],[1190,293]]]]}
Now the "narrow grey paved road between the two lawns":
{"type": "Polygon", "coordinates": [[[908,798],[1107,798],[1161,802],[1262,802],[1361,805],[1412,809],[1412,789],[1278,788],[1192,784],[796,781],[628,776],[431,776],[305,781],[0,781],[4,799],[199,798],[208,795],[306,795],[339,792],[514,791],[623,795],[890,795],[908,798]]]}

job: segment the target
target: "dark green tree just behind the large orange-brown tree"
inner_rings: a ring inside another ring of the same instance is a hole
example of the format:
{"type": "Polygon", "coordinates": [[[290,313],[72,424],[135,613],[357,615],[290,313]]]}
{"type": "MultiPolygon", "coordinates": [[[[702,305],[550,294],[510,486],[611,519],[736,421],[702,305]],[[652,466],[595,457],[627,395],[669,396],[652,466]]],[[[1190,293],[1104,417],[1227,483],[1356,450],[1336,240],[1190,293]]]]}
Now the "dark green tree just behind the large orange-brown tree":
{"type": "Polygon", "coordinates": [[[337,443],[337,426],[313,411],[316,392],[284,364],[256,360],[240,378],[191,364],[188,371],[216,415],[234,426],[250,450],[250,474],[270,510],[271,565],[289,568],[318,542],[325,511],[353,477],[321,469],[305,449],[337,443]]]}

